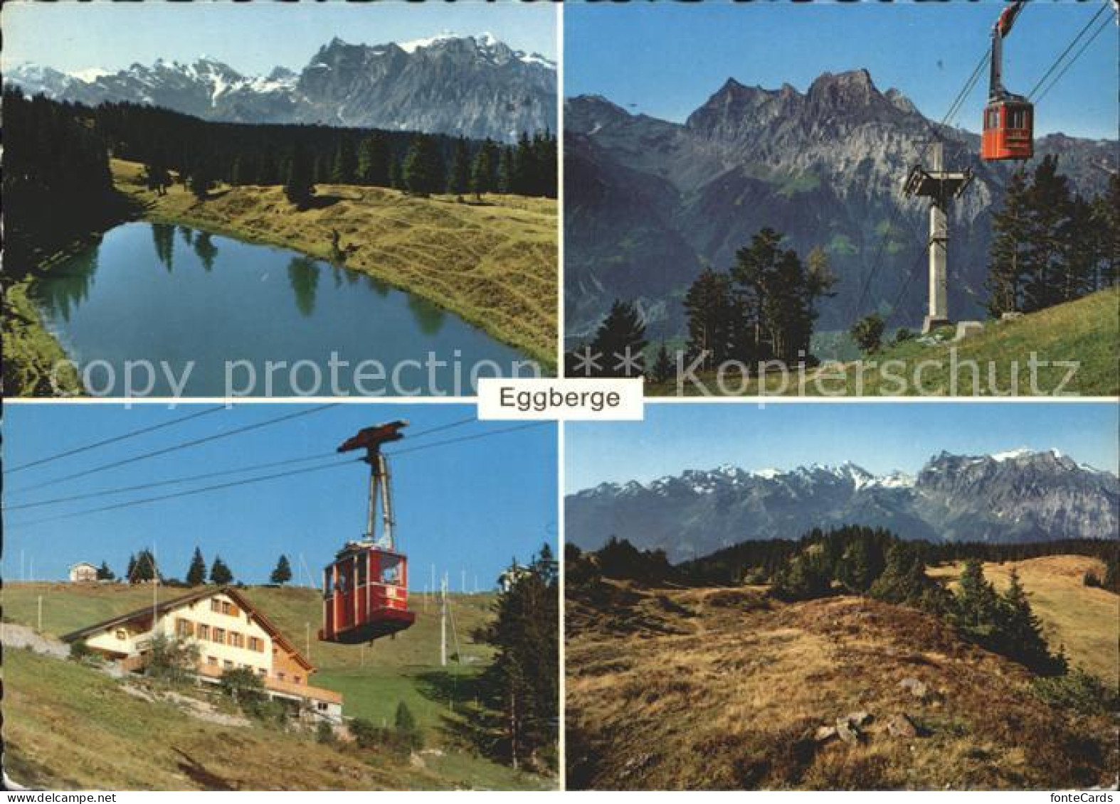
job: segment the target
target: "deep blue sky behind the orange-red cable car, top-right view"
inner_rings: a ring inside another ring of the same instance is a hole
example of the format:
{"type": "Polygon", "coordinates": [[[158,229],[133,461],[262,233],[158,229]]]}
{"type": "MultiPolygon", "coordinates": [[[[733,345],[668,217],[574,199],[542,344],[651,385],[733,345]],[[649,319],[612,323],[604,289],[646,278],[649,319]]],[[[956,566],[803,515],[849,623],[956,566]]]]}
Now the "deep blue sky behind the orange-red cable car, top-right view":
{"type": "MultiPolygon", "coordinates": [[[[1102,2],[1036,0],[1027,7],[1005,47],[1008,88],[1029,92],[1102,2]]],[[[605,95],[631,112],[683,121],[728,77],[766,88],[790,83],[804,92],[821,73],[866,67],[881,91],[897,87],[940,120],[989,48],[1001,6],[570,2],[564,95],[605,95]]],[[[1107,13],[1114,19],[1114,11],[1107,13]]],[[[1113,23],[1045,96],[1039,133],[1116,138],[1117,42],[1113,23]]],[[[979,129],[987,84],[986,70],[958,125],[979,129]]]]}

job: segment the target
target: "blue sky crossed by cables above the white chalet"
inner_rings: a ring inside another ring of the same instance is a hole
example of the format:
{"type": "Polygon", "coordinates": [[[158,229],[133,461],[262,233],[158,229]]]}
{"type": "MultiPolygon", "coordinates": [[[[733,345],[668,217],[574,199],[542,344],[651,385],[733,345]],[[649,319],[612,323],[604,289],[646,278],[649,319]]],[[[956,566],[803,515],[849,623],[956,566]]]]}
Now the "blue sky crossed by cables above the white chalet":
{"type": "MultiPolygon", "coordinates": [[[[169,412],[155,405],[132,409],[116,405],[4,405],[4,466],[19,466],[74,446],[179,418],[200,407],[206,406],[180,405],[169,412]]],[[[473,405],[339,405],[272,427],[19,493],[20,489],[52,477],[306,407],[314,406],[243,405],[41,467],[9,472],[4,476],[4,504],[330,453],[371,424],[405,418],[411,422],[409,431],[419,433],[475,413],[473,405]]],[[[416,437],[414,443],[405,438],[392,448],[435,444],[515,424],[473,422],[416,437]]],[[[430,583],[432,564],[437,573],[446,569],[450,574],[452,590],[459,589],[463,570],[467,573],[468,589],[474,588],[476,576],[479,588],[489,588],[514,556],[525,560],[545,540],[554,548],[556,443],[556,426],[545,424],[401,454],[392,462],[396,533],[400,548],[409,556],[413,590],[422,590],[430,583]]],[[[258,474],[278,471],[283,469],[258,474]]],[[[105,559],[120,574],[129,554],[155,540],[158,559],[167,574],[180,578],[198,545],[207,562],[221,554],[237,578],[248,583],[264,580],[281,552],[292,560],[293,570],[297,557],[302,554],[318,579],[335,550],[345,540],[360,538],[364,530],[368,474],[360,463],[149,505],[20,526],[55,513],[243,476],[246,475],[6,512],[3,576],[19,577],[21,551],[25,568],[34,561],[37,578],[64,577],[66,568],[78,560],[99,564],[105,559]]]]}

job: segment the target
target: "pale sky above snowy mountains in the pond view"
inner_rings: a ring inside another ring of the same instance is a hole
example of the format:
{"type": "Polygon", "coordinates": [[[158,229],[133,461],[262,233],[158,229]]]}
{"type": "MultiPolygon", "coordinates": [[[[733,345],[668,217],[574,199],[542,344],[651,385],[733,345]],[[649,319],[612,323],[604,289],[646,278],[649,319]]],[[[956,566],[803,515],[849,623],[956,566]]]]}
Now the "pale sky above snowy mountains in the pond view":
{"type": "Polygon", "coordinates": [[[459,2],[6,2],[6,64],[32,62],[63,72],[121,69],[157,58],[207,55],[260,74],[299,69],[339,37],[352,44],[409,41],[441,31],[489,31],[515,49],[556,57],[551,3],[459,2]]]}

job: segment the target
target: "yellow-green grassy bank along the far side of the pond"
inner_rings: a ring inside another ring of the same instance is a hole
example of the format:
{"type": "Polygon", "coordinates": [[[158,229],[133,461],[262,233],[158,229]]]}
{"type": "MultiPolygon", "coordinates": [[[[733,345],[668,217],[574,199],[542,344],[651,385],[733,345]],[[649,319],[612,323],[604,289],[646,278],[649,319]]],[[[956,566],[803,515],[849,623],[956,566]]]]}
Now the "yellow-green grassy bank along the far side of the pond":
{"type": "Polygon", "coordinates": [[[521,196],[417,198],[377,187],[317,185],[297,211],[276,187],[220,187],[199,202],[181,185],[141,187],[141,165],[112,160],[143,217],[187,224],[323,259],[339,235],[348,268],[423,296],[547,367],[557,352],[557,202],[521,196]]]}

